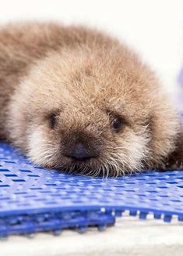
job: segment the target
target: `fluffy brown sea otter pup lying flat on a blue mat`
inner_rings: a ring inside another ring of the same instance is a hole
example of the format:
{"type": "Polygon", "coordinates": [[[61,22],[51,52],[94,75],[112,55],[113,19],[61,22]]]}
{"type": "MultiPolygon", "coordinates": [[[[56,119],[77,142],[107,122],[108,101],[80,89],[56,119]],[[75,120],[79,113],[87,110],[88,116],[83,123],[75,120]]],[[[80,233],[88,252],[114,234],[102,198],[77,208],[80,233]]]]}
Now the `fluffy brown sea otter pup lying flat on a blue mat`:
{"type": "Polygon", "coordinates": [[[86,175],[179,167],[181,122],[157,78],[99,31],[25,23],[0,31],[0,139],[34,164],[86,175]]]}

